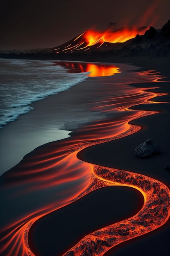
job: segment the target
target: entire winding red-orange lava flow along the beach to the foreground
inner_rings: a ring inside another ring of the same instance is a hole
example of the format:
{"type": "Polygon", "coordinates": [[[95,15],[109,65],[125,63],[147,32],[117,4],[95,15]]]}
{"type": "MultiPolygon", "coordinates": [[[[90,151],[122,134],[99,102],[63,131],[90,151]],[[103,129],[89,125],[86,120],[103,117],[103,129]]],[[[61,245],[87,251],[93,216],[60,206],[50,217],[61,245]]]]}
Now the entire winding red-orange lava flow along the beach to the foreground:
{"type": "Polygon", "coordinates": [[[109,115],[75,130],[67,139],[36,148],[1,176],[0,190],[4,200],[1,209],[2,256],[36,256],[28,240],[31,225],[42,216],[104,186],[135,188],[144,196],[144,206],[132,218],[85,236],[65,252],[65,256],[103,255],[111,247],[157,229],[168,220],[170,191],[164,184],[145,175],[97,166],[77,158],[77,153],[88,146],[139,131],[139,126],[130,125],[129,122],[156,113],[129,111],[128,107],[148,103],[148,99],[163,94],[146,92],[128,84],[157,83],[161,77],[151,71],[135,72],[133,75],[127,72],[122,78],[126,83],[123,80],[118,83],[116,76],[110,77],[110,82],[104,88],[98,88],[101,99],[98,97],[89,110],[109,113],[116,110],[121,113],[119,118],[109,115]],[[119,86],[113,86],[113,83],[119,86]],[[6,204],[9,198],[12,202],[6,204]]]}

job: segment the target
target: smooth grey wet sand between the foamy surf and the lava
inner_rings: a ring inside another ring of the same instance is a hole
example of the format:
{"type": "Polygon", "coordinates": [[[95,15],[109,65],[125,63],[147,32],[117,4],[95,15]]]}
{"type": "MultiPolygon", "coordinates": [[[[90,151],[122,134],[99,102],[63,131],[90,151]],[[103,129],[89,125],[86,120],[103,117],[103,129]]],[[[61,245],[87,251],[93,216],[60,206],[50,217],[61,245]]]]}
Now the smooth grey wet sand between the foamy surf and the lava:
{"type": "MultiPolygon", "coordinates": [[[[123,70],[135,69],[126,64],[119,66],[123,70]]],[[[33,110],[20,115],[16,121],[0,129],[0,140],[4,145],[0,148],[0,175],[18,164],[26,154],[38,146],[69,137],[69,133],[76,128],[100,118],[104,119],[107,114],[87,110],[93,105],[93,101],[96,101],[93,94],[102,90],[101,79],[110,81],[113,76],[103,79],[88,77],[68,90],[31,103],[29,106],[34,108],[33,110]],[[12,150],[11,141],[15,150],[12,150]]],[[[102,99],[102,95],[98,97],[102,99]]]]}

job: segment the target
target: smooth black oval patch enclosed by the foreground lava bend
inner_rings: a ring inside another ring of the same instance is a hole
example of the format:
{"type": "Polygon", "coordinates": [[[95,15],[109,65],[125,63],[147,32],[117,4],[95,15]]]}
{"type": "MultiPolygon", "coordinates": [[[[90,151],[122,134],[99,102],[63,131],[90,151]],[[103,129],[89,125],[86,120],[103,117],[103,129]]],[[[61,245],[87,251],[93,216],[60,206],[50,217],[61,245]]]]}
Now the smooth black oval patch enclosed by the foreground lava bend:
{"type": "Polygon", "coordinates": [[[97,189],[38,220],[29,231],[29,245],[35,255],[62,256],[84,236],[135,215],[143,204],[141,193],[132,188],[97,189]]]}

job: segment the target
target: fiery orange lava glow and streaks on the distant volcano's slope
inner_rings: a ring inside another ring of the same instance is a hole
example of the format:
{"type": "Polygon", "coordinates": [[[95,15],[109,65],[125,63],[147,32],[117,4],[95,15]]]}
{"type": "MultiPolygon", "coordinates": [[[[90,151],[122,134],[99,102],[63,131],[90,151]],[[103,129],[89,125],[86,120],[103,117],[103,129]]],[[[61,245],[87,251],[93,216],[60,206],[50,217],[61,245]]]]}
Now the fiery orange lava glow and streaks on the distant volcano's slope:
{"type": "Polygon", "coordinates": [[[103,44],[107,46],[107,43],[124,43],[129,39],[135,38],[137,34],[144,34],[145,31],[146,27],[141,27],[140,29],[135,27],[122,27],[114,31],[106,29],[102,32],[87,30],[68,43],[58,46],[54,51],[56,54],[64,54],[79,50],[88,51],[93,46],[98,49],[103,44]]]}

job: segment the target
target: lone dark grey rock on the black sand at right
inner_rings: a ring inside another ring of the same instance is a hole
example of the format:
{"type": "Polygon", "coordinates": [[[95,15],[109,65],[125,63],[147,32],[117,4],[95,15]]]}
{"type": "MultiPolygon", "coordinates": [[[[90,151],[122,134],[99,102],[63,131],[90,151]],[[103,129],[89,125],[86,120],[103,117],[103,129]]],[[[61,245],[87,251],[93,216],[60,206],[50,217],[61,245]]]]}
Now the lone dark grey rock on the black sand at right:
{"type": "Polygon", "coordinates": [[[161,148],[154,144],[151,139],[146,140],[135,148],[135,155],[140,158],[151,157],[154,154],[161,152],[161,148]]]}

